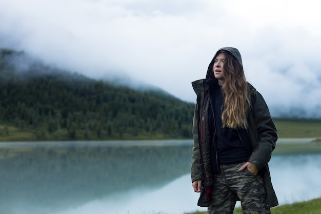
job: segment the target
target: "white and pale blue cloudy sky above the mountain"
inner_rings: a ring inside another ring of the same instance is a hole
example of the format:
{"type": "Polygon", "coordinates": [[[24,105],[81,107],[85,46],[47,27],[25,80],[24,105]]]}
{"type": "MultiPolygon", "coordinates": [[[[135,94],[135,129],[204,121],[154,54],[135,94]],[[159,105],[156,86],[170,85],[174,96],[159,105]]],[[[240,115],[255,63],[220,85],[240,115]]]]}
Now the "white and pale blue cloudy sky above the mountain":
{"type": "Polygon", "coordinates": [[[195,102],[191,82],[205,77],[218,48],[232,46],[272,114],[321,117],[318,4],[0,0],[0,47],[24,50],[90,77],[120,75],[131,84],[146,83],[195,102]]]}

